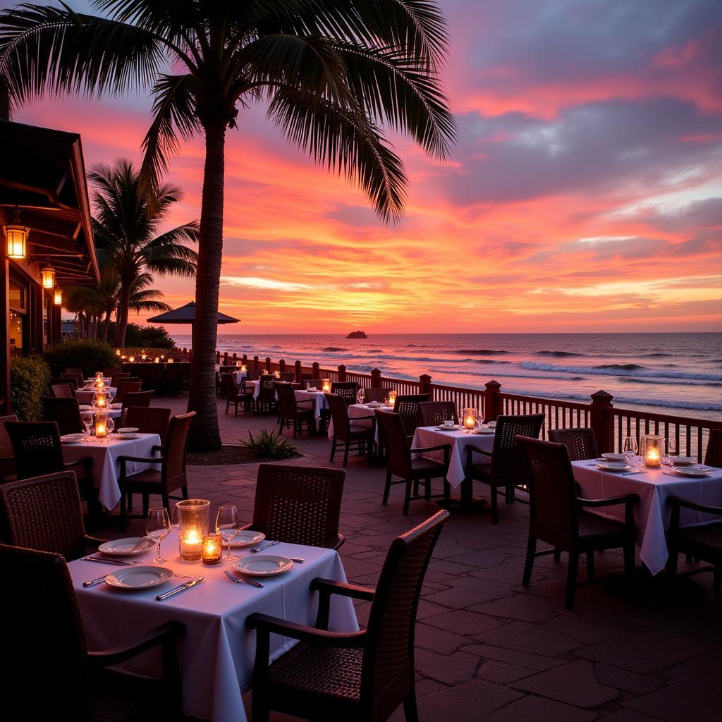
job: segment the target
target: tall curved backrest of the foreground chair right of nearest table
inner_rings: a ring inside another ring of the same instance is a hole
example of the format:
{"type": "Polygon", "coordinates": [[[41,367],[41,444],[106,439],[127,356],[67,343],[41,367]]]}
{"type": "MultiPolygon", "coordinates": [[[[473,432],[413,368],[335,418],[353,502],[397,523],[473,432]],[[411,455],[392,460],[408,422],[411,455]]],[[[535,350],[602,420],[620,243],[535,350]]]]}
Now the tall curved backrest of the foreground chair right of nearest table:
{"type": "MultiPolygon", "coordinates": [[[[391,415],[391,414],[389,414],[391,415]]],[[[414,675],[414,627],[424,577],[448,511],[438,511],[396,536],[383,562],[371,603],[361,671],[361,699],[390,714],[414,675]],[[393,699],[389,697],[394,695],[393,699]]],[[[370,717],[371,718],[371,717],[370,717]]],[[[386,719],[384,713],[373,719],[386,719]]]]}

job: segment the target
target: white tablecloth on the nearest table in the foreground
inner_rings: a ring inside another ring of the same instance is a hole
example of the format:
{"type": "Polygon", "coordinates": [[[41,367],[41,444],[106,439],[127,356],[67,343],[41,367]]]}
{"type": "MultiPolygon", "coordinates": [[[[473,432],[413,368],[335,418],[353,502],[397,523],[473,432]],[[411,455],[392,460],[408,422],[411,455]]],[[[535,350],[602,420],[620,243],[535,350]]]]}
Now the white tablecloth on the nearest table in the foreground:
{"type": "MultiPolygon", "coordinates": [[[[256,633],[248,630],[245,619],[253,612],[313,625],[318,606],[316,593],[309,592],[313,578],[346,581],[339,555],[332,549],[277,544],[269,549],[279,556],[301,557],[282,575],[264,578],[264,588],[233,584],[223,573],[230,562],[206,566],[201,562],[181,562],[177,537],[168,536],[162,554],[176,574],[203,576],[204,580],[165,601],[155,596],[186,581],[173,578],[165,585],[147,591],[119,591],[105,584],[83,588],[84,580],[95,579],[122,567],[94,562],[71,562],[70,572],[78,595],[85,633],[90,649],[105,649],[127,642],[137,635],[171,619],[186,625],[186,635],[178,641],[178,660],[183,684],[183,712],[212,722],[244,722],[241,692],[251,686],[256,633]]],[[[147,560],[155,554],[147,554],[147,560]]],[[[335,597],[331,602],[329,628],[355,632],[358,624],[350,599],[335,597]]],[[[271,657],[277,658],[293,645],[292,640],[271,635],[271,657]]],[[[146,654],[129,664],[129,671],[160,674],[160,655],[146,654]]]]}

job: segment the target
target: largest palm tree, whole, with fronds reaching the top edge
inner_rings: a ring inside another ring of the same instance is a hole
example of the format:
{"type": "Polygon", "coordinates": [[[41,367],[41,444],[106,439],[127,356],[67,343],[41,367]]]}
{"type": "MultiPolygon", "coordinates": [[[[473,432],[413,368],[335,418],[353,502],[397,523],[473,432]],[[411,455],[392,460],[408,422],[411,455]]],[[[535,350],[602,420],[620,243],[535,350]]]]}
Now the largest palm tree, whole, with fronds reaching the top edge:
{"type": "Polygon", "coordinates": [[[448,47],[434,0],[95,0],[108,17],[23,5],[0,15],[13,105],[50,92],[152,87],[144,178],[204,136],[191,444],[217,448],[214,361],[225,136],[258,101],[293,144],[360,186],[379,216],[403,212],[406,173],[386,124],[443,158],[454,122],[438,80],[448,47]],[[170,69],[170,70],[168,70],[170,69]]]}

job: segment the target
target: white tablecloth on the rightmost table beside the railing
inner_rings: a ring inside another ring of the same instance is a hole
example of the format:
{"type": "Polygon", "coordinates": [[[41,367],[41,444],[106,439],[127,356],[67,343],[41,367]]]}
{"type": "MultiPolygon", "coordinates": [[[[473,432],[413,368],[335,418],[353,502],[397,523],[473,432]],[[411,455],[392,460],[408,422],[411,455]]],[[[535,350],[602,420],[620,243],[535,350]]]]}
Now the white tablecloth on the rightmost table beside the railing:
{"type": "MultiPolygon", "coordinates": [[[[637,464],[638,464],[637,459],[637,464]]],[[[601,499],[622,494],[636,494],[639,503],[635,505],[634,520],[637,526],[637,543],[640,547],[640,559],[648,570],[657,574],[664,569],[669,552],[664,532],[669,526],[670,509],[667,497],[679,496],[700,504],[722,505],[722,470],[716,469],[709,477],[692,479],[690,477],[671,477],[669,467],[645,469],[642,474],[621,474],[601,471],[593,466],[593,461],[574,461],[574,478],[581,488],[585,499],[601,499]]],[[[591,511],[591,509],[590,509],[591,511]]],[[[595,513],[609,518],[624,518],[624,505],[595,513]]],[[[719,521],[719,518],[682,509],[682,526],[719,521]]]]}

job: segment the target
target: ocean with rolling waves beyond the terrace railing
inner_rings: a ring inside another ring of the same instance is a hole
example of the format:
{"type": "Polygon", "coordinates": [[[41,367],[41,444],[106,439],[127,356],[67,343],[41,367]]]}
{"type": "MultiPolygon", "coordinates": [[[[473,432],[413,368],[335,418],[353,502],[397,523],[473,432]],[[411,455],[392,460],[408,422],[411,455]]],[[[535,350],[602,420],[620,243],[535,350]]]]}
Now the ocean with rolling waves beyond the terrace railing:
{"type": "MultiPolygon", "coordinates": [[[[190,335],[173,335],[188,347],[190,335]]],[[[226,334],[221,352],[346,364],[349,371],[588,401],[600,388],[615,406],[722,419],[722,334],[226,334]]]]}

